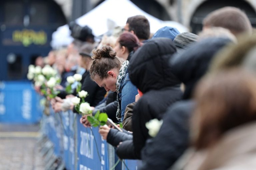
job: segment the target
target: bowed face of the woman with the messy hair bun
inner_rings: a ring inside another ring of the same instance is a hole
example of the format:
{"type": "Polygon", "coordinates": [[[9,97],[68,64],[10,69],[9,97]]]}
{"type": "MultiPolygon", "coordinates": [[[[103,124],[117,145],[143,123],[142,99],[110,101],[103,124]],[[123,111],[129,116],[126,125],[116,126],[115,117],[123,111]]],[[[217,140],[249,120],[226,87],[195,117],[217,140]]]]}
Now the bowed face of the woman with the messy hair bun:
{"type": "Polygon", "coordinates": [[[94,79],[94,81],[100,86],[104,87],[105,90],[108,92],[109,90],[115,92],[116,91],[116,76],[108,75],[107,78],[100,79],[98,76],[94,79]]]}

